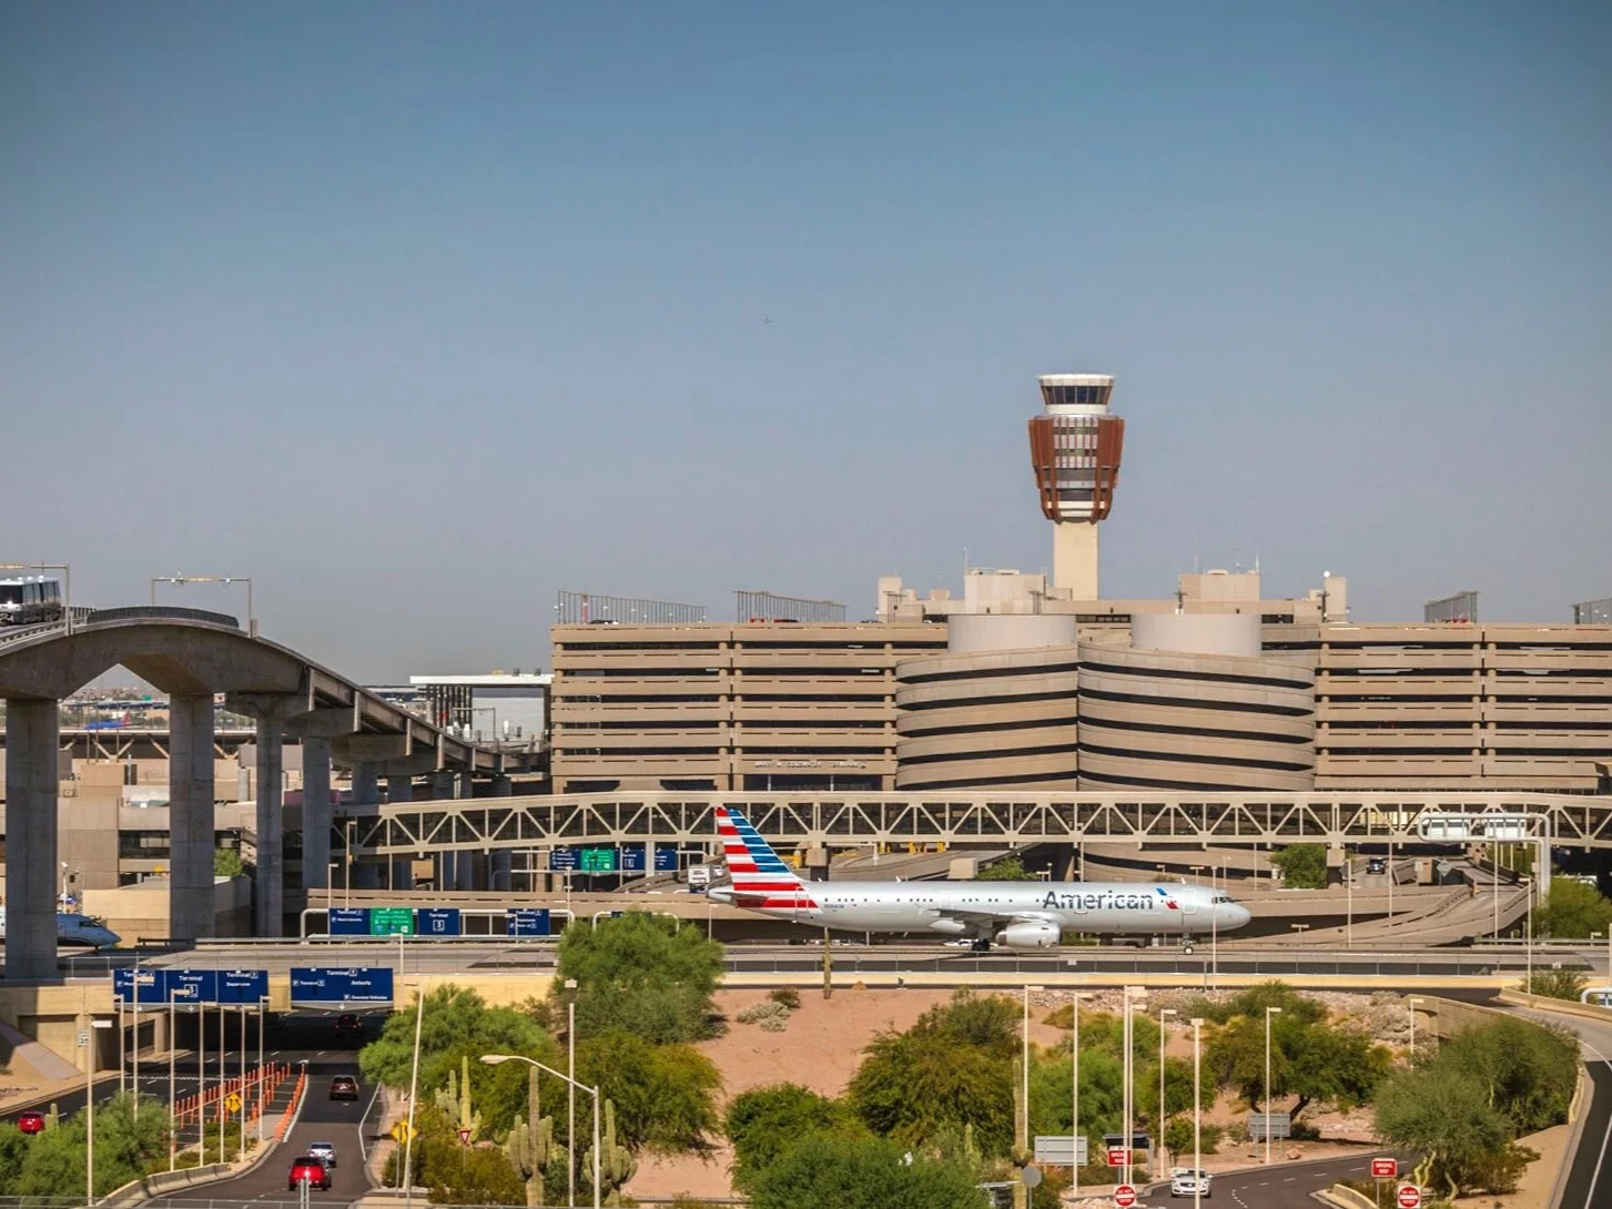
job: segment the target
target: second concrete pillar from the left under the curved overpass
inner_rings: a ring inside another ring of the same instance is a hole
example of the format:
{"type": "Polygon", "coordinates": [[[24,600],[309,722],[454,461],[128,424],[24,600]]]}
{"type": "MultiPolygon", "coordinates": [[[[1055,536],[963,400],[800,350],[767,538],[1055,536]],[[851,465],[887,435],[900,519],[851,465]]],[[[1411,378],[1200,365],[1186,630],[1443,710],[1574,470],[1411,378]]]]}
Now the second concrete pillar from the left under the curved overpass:
{"type": "MultiPolygon", "coordinates": [[[[213,695],[169,698],[168,751],[168,935],[198,940],[218,933],[213,904],[213,695]]],[[[263,837],[258,837],[261,877],[263,837]]]]}

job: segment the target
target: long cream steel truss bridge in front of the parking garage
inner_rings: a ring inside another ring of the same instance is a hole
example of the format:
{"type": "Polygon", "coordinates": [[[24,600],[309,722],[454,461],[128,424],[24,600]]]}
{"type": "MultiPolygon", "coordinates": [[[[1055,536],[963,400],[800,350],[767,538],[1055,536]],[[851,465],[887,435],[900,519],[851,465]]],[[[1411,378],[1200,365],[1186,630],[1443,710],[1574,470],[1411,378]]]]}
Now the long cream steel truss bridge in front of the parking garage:
{"type": "MultiPolygon", "coordinates": [[[[1241,845],[1425,843],[1428,816],[1494,816],[1473,843],[1514,841],[1519,816],[1560,848],[1612,848],[1612,796],[1551,793],[600,793],[358,808],[353,856],[698,843],[737,808],[782,848],[874,843],[1241,845]]],[[[339,819],[337,827],[343,822],[339,819]]]]}

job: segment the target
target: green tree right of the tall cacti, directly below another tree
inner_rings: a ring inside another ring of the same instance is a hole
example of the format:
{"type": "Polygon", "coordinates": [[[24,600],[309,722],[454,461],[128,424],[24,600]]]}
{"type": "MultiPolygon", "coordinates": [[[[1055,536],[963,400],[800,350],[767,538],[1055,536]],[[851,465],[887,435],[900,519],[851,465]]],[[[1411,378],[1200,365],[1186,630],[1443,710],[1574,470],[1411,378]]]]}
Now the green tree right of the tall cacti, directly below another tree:
{"type": "MultiPolygon", "coordinates": [[[[624,1032],[590,1037],[577,1043],[577,1078],[616,1101],[616,1133],[629,1151],[708,1149],[709,1135],[719,1128],[716,1095],[722,1077],[693,1046],[654,1046],[624,1032]]],[[[580,1122],[577,1132],[584,1132],[580,1122]]]]}

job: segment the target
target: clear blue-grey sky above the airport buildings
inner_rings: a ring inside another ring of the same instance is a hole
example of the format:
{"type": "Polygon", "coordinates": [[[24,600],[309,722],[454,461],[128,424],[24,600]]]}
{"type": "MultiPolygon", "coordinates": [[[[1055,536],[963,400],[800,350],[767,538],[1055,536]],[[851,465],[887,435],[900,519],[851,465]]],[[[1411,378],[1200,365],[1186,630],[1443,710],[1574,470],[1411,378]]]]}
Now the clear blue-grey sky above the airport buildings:
{"type": "Polygon", "coordinates": [[[0,561],[366,682],[561,588],[1612,595],[1604,3],[0,5],[0,561]],[[239,588],[160,600],[245,613],[239,588]]]}

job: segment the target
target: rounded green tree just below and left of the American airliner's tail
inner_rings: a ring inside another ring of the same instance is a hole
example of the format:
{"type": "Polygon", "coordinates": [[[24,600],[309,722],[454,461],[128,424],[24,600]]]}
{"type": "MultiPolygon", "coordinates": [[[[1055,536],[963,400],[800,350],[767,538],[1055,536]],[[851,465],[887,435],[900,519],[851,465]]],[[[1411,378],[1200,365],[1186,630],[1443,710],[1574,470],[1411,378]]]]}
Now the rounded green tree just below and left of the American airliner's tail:
{"type": "Polygon", "coordinates": [[[722,946],[700,929],[637,911],[566,929],[555,996],[577,980],[582,1037],[621,1030],[656,1045],[698,1041],[714,1032],[722,969],[722,946]]]}

